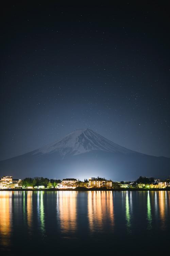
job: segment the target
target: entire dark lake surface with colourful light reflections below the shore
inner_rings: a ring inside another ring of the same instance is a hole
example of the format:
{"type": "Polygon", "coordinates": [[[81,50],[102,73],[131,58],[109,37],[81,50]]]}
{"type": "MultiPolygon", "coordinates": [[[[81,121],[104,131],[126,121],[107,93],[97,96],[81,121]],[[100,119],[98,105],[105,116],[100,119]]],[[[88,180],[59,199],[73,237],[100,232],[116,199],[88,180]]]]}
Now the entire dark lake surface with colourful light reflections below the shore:
{"type": "Polygon", "coordinates": [[[170,252],[170,191],[0,191],[0,255],[170,252]]]}

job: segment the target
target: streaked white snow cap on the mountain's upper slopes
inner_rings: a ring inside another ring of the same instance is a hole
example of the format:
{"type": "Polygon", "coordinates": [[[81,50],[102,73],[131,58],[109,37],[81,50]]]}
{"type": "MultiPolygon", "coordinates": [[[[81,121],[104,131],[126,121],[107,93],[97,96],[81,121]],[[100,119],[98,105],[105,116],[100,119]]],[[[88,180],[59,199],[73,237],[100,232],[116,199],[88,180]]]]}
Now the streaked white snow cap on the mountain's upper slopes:
{"type": "Polygon", "coordinates": [[[61,156],[78,155],[92,150],[106,152],[120,152],[123,154],[134,151],[119,146],[90,129],[79,129],[71,132],[66,137],[41,147],[34,154],[50,154],[58,152],[61,156]]]}

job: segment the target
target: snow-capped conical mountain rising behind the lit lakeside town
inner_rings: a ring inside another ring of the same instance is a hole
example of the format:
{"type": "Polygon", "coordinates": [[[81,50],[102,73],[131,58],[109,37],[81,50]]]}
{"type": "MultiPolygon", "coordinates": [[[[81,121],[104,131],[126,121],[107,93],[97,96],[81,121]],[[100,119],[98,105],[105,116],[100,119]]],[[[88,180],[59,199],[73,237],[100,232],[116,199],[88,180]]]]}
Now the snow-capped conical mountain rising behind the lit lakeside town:
{"type": "Polygon", "coordinates": [[[104,176],[135,180],[138,176],[168,177],[170,158],[141,154],[90,129],[79,129],[37,150],[0,161],[0,175],[79,179],[104,176]]]}

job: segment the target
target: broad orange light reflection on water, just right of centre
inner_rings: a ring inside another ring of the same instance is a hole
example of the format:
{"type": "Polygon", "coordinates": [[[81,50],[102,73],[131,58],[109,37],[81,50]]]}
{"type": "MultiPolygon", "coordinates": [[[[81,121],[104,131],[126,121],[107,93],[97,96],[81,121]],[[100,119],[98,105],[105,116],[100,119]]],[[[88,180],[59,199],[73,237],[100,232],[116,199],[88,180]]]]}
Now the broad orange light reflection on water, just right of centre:
{"type": "Polygon", "coordinates": [[[114,205],[112,191],[88,192],[88,219],[91,232],[103,231],[106,228],[106,224],[108,224],[108,229],[113,228],[114,205]]]}

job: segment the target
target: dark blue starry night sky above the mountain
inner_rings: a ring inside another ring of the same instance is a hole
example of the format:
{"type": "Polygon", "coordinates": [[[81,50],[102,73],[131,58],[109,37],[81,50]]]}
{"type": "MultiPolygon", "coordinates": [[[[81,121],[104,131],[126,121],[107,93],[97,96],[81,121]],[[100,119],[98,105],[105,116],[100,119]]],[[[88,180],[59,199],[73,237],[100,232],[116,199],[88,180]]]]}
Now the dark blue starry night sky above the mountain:
{"type": "Polygon", "coordinates": [[[80,128],[170,157],[166,5],[14,2],[1,11],[0,160],[80,128]]]}

